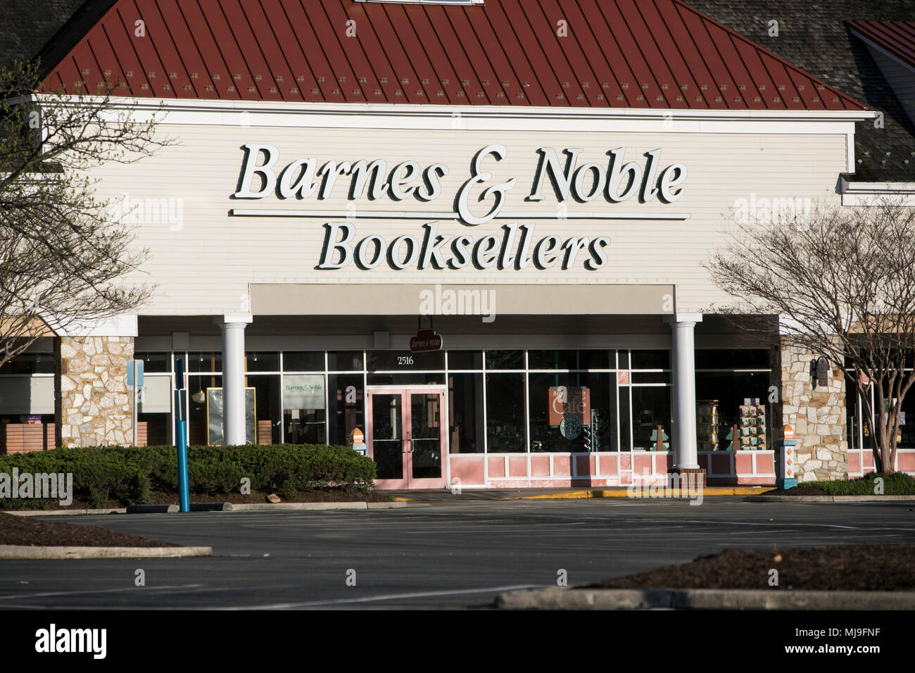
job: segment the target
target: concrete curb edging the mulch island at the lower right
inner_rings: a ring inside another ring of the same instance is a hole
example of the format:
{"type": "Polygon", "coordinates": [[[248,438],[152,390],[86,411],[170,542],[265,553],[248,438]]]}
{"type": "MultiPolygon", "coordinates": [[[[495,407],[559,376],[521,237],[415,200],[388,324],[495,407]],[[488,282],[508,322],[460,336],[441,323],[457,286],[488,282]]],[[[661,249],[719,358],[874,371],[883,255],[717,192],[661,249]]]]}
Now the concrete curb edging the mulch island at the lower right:
{"type": "Polygon", "coordinates": [[[508,610],[915,610],[915,592],[765,589],[528,589],[501,593],[508,610]]]}

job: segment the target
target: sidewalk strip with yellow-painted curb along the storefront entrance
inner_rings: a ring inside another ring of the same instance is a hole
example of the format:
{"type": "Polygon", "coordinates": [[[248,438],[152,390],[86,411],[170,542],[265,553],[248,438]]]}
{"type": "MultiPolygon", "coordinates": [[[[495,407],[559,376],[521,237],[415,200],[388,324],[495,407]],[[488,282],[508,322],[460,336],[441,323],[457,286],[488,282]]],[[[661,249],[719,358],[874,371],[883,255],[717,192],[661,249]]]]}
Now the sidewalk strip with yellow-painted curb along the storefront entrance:
{"type": "MultiPolygon", "coordinates": [[[[771,491],[774,486],[706,486],[703,497],[710,495],[759,495],[771,491]]],[[[452,492],[450,489],[436,489],[423,491],[383,491],[382,493],[393,496],[395,500],[406,502],[440,501],[440,500],[580,500],[584,498],[626,498],[632,497],[626,486],[608,488],[607,486],[594,486],[591,488],[489,488],[489,489],[460,489],[452,492]]],[[[681,491],[685,497],[686,491],[681,491]]],[[[654,497],[660,497],[659,491],[654,497]]],[[[642,496],[636,496],[642,497],[642,496]]],[[[671,489],[665,488],[663,497],[673,497],[671,489]]]]}

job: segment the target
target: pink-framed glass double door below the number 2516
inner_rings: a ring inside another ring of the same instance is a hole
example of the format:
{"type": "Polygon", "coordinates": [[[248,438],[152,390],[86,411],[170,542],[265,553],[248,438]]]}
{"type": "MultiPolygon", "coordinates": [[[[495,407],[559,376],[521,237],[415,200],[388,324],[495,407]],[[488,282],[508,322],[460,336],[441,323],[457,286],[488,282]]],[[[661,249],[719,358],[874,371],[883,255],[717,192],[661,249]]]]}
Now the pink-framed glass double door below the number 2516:
{"type": "Polygon", "coordinates": [[[367,402],[375,485],[445,488],[445,387],[370,388],[367,402]]]}

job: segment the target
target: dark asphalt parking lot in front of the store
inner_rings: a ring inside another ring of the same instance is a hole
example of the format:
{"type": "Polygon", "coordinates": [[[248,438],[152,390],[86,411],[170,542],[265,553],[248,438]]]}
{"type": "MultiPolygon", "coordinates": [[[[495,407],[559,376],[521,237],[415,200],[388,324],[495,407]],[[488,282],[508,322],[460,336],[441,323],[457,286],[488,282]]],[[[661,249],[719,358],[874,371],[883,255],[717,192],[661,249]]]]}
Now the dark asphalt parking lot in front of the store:
{"type": "MultiPolygon", "coordinates": [[[[58,521],[60,519],[57,519],[58,521]]],[[[402,509],[72,516],[192,559],[3,560],[3,609],[473,608],[725,548],[915,542],[915,504],[487,500],[402,509]],[[137,570],[145,585],[137,586],[137,570]]]]}

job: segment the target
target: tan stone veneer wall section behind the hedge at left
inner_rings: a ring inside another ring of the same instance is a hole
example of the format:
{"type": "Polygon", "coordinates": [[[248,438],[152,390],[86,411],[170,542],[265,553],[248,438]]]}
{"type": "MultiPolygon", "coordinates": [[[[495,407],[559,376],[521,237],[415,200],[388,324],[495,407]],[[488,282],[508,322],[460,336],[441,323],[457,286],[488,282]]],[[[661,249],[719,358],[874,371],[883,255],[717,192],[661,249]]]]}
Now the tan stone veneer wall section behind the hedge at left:
{"type": "Polygon", "coordinates": [[[58,446],[130,445],[127,360],[134,357],[134,338],[59,337],[54,357],[58,446]]]}

